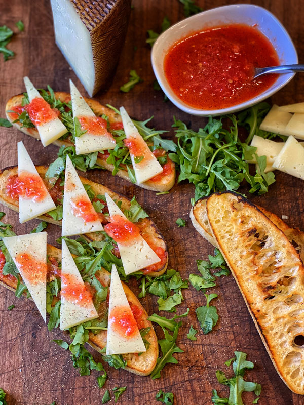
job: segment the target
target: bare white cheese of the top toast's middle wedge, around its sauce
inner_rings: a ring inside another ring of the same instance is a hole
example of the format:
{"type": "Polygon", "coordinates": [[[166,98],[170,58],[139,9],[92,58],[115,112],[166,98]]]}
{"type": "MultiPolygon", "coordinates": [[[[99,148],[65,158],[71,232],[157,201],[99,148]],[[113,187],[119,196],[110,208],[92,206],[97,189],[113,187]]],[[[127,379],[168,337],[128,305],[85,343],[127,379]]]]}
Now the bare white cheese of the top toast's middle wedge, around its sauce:
{"type": "MultiPolygon", "coordinates": [[[[82,118],[95,118],[96,115],[91,110],[90,106],[86,103],[78,89],[73,84],[72,80],[70,83],[70,93],[72,100],[72,111],[74,118],[78,118],[80,121],[82,118]]],[[[76,154],[86,154],[91,152],[97,152],[99,150],[113,149],[115,148],[116,141],[112,135],[107,131],[107,129],[102,129],[99,134],[90,134],[90,129],[81,135],[80,137],[75,137],[75,149],[76,154]]]]}

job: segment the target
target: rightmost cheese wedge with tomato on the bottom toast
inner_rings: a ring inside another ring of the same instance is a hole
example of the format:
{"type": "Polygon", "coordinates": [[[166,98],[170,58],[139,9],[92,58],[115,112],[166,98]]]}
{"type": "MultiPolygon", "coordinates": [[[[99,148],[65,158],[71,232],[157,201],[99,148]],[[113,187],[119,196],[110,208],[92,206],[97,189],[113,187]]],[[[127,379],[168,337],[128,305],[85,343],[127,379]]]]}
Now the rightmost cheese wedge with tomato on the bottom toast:
{"type": "Polygon", "coordinates": [[[112,265],[106,354],[146,351],[115,265],[112,265]]]}

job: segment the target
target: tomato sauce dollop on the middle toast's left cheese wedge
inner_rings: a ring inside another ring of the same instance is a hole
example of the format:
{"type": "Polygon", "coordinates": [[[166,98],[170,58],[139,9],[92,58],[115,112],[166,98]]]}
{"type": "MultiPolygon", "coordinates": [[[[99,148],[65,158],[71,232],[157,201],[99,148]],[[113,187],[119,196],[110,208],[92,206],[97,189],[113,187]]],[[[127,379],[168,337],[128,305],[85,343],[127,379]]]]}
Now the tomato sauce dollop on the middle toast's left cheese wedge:
{"type": "Polygon", "coordinates": [[[42,201],[48,193],[42,178],[28,172],[10,176],[6,188],[12,199],[18,199],[20,195],[33,201],[42,201]]]}

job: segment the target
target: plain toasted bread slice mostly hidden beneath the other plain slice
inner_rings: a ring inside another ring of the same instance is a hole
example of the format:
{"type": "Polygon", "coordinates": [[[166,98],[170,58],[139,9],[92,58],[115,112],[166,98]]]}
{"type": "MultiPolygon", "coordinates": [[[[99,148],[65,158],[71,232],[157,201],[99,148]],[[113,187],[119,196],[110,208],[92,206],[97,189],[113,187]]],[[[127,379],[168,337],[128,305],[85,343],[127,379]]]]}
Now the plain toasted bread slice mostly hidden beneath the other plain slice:
{"type": "MultiPolygon", "coordinates": [[[[195,229],[210,242],[215,248],[218,248],[217,242],[213,237],[212,230],[209,225],[207,216],[207,199],[202,198],[196,202],[194,207],[190,211],[190,218],[195,229]]],[[[291,228],[276,214],[257,206],[262,213],[267,216],[284,234],[287,236],[290,243],[295,247],[299,253],[302,262],[304,262],[304,232],[298,228],[291,228]]]]}

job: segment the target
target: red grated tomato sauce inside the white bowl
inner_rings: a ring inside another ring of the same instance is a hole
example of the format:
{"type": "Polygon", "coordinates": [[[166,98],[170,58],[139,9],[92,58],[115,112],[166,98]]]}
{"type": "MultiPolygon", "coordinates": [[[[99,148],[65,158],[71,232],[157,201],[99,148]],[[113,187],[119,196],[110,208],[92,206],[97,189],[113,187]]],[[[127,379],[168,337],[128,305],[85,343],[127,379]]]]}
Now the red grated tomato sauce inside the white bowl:
{"type": "Polygon", "coordinates": [[[183,102],[211,110],[261,94],[277,75],[253,80],[254,68],[278,64],[274,47],[257,28],[231,24],[181,39],[165,56],[164,70],[172,90],[183,102]]]}

